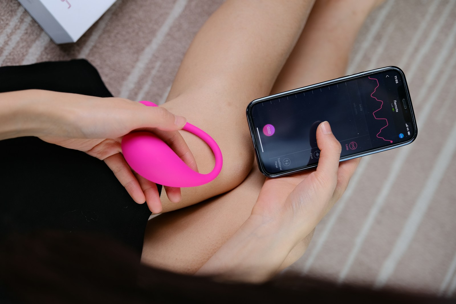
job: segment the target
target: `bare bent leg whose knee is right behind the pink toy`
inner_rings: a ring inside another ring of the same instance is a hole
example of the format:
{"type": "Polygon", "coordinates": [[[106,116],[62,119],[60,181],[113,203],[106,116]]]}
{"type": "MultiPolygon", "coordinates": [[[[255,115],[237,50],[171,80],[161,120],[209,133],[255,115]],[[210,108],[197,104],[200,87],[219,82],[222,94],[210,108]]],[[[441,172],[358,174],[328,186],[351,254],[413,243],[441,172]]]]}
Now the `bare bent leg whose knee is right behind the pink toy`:
{"type": "MultiPolygon", "coordinates": [[[[179,203],[171,203],[163,193],[164,212],[229,191],[245,179],[254,157],[245,108],[254,98],[269,94],[312,2],[229,0],[197,33],[163,106],[185,116],[218,142],[223,169],[207,185],[183,188],[179,203]]],[[[187,132],[182,136],[199,171],[212,170],[214,160],[207,145],[187,132]]]]}

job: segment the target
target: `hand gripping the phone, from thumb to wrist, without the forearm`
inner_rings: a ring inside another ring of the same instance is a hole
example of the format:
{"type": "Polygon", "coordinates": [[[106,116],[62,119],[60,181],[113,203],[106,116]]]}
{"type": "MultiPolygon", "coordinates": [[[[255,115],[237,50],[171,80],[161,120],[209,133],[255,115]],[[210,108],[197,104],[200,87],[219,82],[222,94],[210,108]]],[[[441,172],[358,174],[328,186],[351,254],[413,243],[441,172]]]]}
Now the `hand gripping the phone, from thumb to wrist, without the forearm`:
{"type": "Polygon", "coordinates": [[[309,234],[347,189],[360,158],[339,162],[341,144],[330,124],[322,122],[316,130],[321,150],[316,170],[281,178],[266,179],[252,216],[262,222],[279,222],[298,242],[309,234]]]}

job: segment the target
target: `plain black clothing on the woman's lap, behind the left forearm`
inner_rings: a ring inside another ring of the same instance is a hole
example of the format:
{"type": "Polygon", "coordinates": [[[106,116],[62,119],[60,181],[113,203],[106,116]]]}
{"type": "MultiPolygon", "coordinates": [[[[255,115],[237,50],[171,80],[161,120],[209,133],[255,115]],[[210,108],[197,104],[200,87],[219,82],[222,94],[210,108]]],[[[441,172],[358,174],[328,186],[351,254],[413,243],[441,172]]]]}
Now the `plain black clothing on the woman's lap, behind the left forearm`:
{"type": "MultiPolygon", "coordinates": [[[[112,97],[82,59],[0,67],[0,92],[24,89],[112,97]]],[[[149,208],[133,201],[104,161],[36,137],[1,140],[0,161],[0,238],[43,229],[95,232],[142,251],[149,208]]]]}

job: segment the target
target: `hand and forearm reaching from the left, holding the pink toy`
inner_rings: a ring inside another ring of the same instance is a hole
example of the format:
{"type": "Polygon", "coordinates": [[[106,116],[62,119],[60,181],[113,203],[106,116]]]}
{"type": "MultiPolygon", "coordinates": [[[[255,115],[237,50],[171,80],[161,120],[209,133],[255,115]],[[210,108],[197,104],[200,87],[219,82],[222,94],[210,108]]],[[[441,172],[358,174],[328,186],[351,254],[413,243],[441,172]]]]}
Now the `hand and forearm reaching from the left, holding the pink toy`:
{"type": "MultiPolygon", "coordinates": [[[[2,98],[11,99],[7,103],[11,111],[5,113],[16,114],[1,118],[10,127],[0,133],[0,139],[36,136],[104,160],[130,196],[137,203],[147,201],[154,213],[161,212],[157,188],[155,183],[133,172],[124,160],[121,150],[124,135],[137,130],[153,132],[185,164],[197,170],[192,152],[177,132],[185,125],[186,119],[165,108],[146,107],[124,98],[99,98],[44,90],[1,94],[2,98]],[[14,131],[8,132],[8,129],[14,131]]],[[[165,188],[170,201],[181,200],[180,188],[165,188]]]]}

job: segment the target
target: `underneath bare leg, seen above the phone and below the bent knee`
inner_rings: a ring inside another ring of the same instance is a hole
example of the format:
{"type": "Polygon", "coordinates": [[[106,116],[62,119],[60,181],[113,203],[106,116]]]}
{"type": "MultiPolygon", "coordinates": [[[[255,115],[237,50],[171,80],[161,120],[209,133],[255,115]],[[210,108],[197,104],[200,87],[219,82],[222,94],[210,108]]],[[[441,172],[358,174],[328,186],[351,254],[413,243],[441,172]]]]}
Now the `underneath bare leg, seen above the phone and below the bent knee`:
{"type": "MultiPolygon", "coordinates": [[[[355,0],[355,5],[352,0],[341,2],[316,2],[273,92],[344,74],[352,43],[372,8],[372,2],[355,0]],[[332,41],[337,47],[332,45],[332,41]]],[[[242,110],[239,115],[245,119],[245,109],[242,110]]],[[[254,166],[249,176],[234,190],[201,204],[155,217],[146,228],[142,261],[172,271],[196,272],[250,215],[263,182],[264,176],[254,166]]],[[[311,234],[290,252],[282,268],[301,257],[311,234]]]]}

